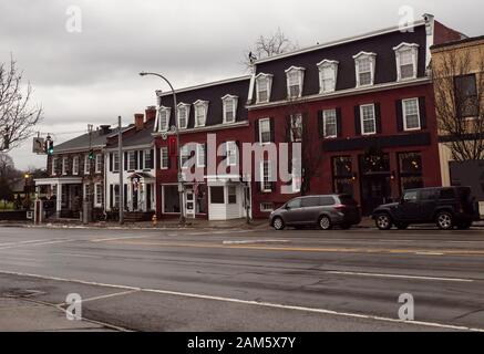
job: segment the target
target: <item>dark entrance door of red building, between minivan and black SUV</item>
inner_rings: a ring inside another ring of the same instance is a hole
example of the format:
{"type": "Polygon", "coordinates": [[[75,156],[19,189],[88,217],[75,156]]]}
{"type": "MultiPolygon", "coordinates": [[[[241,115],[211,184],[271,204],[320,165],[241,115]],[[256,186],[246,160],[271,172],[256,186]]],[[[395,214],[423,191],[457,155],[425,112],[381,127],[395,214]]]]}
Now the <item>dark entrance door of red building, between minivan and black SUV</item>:
{"type": "Polygon", "coordinates": [[[391,201],[390,176],[368,175],[361,180],[361,206],[363,215],[370,215],[374,208],[391,201]]]}

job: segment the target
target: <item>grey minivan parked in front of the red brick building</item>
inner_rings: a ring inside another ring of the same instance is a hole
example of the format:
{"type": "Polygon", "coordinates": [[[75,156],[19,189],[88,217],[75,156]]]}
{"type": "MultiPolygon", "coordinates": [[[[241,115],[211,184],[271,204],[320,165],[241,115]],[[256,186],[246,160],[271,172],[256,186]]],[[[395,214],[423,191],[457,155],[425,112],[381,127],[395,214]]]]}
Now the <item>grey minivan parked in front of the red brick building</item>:
{"type": "Polygon", "coordinates": [[[321,230],[339,226],[349,229],[360,221],[360,207],[349,195],[298,197],[270,214],[270,225],[276,230],[286,226],[318,226],[321,230]]]}

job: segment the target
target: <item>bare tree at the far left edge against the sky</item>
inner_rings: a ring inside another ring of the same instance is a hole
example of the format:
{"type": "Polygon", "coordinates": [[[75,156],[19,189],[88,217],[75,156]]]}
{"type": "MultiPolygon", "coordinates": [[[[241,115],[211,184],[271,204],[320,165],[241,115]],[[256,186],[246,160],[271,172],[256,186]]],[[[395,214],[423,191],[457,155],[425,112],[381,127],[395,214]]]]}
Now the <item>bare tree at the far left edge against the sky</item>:
{"type": "Polygon", "coordinates": [[[29,138],[42,117],[42,107],[31,106],[32,86],[22,83],[23,72],[0,63],[0,150],[9,150],[29,138]]]}

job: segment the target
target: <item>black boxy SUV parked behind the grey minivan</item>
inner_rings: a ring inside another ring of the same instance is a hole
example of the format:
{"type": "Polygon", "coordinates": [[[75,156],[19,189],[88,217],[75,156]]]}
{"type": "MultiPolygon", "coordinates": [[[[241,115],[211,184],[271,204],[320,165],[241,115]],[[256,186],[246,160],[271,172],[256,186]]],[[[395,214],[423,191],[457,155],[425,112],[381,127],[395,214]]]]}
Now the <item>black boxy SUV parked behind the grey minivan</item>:
{"type": "Polygon", "coordinates": [[[372,218],[380,230],[392,226],[406,229],[411,223],[435,222],[442,230],[468,229],[480,219],[478,206],[470,187],[409,189],[399,202],[375,208],[372,218]]]}

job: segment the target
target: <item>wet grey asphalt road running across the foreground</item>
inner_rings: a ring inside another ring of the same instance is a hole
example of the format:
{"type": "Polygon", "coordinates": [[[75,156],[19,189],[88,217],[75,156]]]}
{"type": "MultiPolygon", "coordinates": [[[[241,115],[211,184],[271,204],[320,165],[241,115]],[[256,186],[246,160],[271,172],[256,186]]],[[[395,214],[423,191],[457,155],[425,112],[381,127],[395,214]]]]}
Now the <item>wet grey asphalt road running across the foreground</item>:
{"type": "Polygon", "coordinates": [[[135,331],[484,329],[484,230],[0,228],[0,298],[69,293],[135,331]]]}

